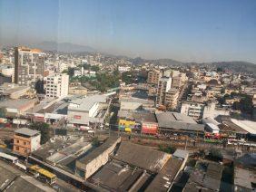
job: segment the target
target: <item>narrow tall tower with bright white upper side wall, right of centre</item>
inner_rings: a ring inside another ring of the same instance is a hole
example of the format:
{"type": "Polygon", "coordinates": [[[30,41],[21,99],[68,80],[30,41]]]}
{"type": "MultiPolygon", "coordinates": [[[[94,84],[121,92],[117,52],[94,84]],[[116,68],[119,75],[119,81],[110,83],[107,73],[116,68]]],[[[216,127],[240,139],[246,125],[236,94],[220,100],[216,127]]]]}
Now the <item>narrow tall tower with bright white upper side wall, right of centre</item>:
{"type": "Polygon", "coordinates": [[[171,89],[172,78],[162,77],[158,82],[156,105],[164,105],[165,94],[171,89]]]}

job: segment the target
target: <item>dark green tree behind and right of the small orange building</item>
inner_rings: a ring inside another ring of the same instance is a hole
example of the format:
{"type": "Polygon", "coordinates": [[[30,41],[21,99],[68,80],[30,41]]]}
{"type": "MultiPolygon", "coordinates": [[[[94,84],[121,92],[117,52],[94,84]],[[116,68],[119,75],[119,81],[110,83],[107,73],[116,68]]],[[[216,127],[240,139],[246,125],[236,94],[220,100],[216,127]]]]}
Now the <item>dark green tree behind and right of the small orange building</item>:
{"type": "Polygon", "coordinates": [[[45,122],[34,122],[29,126],[31,130],[39,130],[41,132],[41,144],[46,143],[50,139],[50,126],[45,122]]]}

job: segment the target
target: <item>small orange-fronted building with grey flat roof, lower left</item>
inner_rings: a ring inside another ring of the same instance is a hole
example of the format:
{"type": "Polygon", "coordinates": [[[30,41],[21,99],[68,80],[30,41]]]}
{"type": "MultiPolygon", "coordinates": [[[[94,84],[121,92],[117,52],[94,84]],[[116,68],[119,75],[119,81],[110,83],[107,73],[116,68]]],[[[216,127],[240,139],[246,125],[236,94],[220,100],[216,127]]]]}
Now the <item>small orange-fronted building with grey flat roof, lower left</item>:
{"type": "Polygon", "coordinates": [[[22,156],[27,156],[31,152],[40,148],[41,133],[38,130],[22,128],[15,130],[14,152],[22,156]]]}

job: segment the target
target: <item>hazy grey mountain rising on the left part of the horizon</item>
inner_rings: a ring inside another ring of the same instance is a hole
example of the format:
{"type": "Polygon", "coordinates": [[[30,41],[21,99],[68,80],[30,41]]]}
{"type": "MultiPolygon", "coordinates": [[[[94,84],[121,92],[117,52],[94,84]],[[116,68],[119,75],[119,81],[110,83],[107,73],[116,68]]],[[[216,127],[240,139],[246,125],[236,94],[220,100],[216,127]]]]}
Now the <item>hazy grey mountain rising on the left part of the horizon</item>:
{"type": "Polygon", "coordinates": [[[40,48],[45,51],[57,51],[62,53],[96,52],[93,47],[74,43],[42,42],[35,44],[34,47],[40,48]]]}

